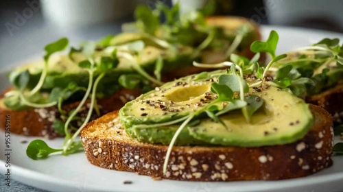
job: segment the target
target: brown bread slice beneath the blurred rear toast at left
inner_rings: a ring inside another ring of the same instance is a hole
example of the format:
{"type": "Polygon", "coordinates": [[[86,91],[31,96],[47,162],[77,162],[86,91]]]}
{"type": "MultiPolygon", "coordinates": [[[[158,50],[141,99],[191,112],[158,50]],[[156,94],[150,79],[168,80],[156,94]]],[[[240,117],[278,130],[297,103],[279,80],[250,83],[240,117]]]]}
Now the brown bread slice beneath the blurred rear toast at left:
{"type": "MultiPolygon", "coordinates": [[[[49,108],[29,108],[27,110],[12,110],[6,108],[1,102],[5,92],[0,95],[0,128],[5,128],[5,117],[10,115],[12,120],[11,132],[14,134],[45,136],[49,139],[56,136],[62,136],[52,127],[52,124],[56,119],[61,119],[57,106],[49,108]]],[[[121,89],[121,91],[118,91],[111,97],[98,99],[97,105],[99,106],[100,115],[104,115],[113,110],[118,110],[126,104],[127,101],[136,98],[140,94],[141,91],[138,89],[121,89]]],[[[84,110],[80,112],[84,114],[84,117],[88,111],[89,103],[89,100],[86,101],[84,104],[84,110]]],[[[80,102],[66,104],[62,106],[62,109],[68,113],[72,109],[75,109],[79,104],[80,102]]],[[[93,119],[97,118],[95,115],[96,113],[93,112],[93,114],[93,119]]]]}

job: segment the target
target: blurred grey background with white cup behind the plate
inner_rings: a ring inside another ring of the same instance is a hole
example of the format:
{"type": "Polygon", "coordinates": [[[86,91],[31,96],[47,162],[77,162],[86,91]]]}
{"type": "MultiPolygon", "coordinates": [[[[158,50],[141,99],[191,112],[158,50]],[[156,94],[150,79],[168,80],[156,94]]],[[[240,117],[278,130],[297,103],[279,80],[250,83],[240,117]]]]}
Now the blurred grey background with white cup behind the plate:
{"type": "MultiPolygon", "coordinates": [[[[138,3],[158,0],[12,0],[0,2],[0,62],[36,56],[47,43],[67,36],[73,45],[120,32],[138,3]],[[20,52],[20,54],[18,54],[20,52]]],[[[159,0],[172,5],[174,0],[159,0]]],[[[177,1],[177,0],[176,0],[177,1]]],[[[181,10],[209,0],[181,0],[181,10]]],[[[263,25],[310,27],[343,32],[340,0],[213,0],[214,14],[245,16],[263,25]]],[[[175,2],[175,1],[174,1],[175,2]]]]}

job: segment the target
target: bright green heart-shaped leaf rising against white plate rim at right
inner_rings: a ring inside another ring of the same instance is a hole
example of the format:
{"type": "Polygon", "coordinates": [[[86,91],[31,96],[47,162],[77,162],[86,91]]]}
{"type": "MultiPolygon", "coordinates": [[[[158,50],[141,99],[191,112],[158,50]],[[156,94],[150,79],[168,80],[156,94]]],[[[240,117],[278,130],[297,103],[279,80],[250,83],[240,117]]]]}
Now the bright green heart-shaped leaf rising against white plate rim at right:
{"type": "Polygon", "coordinates": [[[254,53],[266,52],[269,53],[272,58],[275,58],[276,46],[279,42],[279,35],[273,30],[270,32],[268,40],[263,42],[257,40],[252,43],[250,49],[254,53]]]}

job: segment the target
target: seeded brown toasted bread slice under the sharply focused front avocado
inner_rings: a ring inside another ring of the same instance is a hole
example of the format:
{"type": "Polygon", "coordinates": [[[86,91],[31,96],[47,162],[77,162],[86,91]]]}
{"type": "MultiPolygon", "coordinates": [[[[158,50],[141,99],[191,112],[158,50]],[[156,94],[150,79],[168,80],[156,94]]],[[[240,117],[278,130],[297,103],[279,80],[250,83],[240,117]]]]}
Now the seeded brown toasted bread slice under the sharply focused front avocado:
{"type": "Polygon", "coordinates": [[[165,175],[163,162],[168,147],[130,138],[120,125],[118,111],[88,123],[81,138],[91,164],[153,178],[189,181],[298,178],[332,165],[331,115],[318,106],[310,108],[314,125],[300,141],[267,147],[173,147],[165,175]]]}

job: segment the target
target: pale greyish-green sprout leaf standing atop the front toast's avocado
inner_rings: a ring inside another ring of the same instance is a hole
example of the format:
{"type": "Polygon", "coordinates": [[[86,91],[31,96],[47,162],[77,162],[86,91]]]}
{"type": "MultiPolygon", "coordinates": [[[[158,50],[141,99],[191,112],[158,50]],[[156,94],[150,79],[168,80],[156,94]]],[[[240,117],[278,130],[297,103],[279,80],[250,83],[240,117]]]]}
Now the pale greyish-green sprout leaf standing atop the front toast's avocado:
{"type": "Polygon", "coordinates": [[[239,92],[239,79],[243,83],[243,91],[244,93],[249,92],[249,86],[245,80],[243,80],[238,75],[220,75],[218,78],[218,84],[225,84],[228,86],[233,92],[239,92]]]}

